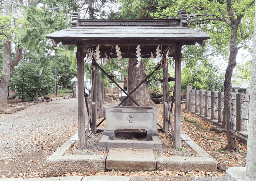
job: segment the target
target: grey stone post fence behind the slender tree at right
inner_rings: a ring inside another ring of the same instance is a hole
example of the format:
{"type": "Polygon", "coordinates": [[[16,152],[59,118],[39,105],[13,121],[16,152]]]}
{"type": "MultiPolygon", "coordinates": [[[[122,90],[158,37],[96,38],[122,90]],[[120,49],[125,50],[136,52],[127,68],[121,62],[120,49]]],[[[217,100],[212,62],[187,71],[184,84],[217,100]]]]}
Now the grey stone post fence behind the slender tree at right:
{"type": "MultiPolygon", "coordinates": [[[[236,131],[247,131],[250,89],[244,89],[243,93],[238,93],[238,89],[233,88],[231,96],[230,101],[236,131]]],[[[224,92],[215,90],[193,90],[192,86],[188,85],[186,86],[186,109],[221,124],[223,121],[225,122],[226,119],[224,92]]]]}

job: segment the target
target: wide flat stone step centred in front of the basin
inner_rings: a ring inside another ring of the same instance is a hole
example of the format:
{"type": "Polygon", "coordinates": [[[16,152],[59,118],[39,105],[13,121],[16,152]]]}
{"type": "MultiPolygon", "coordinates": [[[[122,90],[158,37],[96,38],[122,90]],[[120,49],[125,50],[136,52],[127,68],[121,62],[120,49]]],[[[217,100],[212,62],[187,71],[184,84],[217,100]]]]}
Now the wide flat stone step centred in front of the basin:
{"type": "Polygon", "coordinates": [[[106,168],[110,170],[152,171],[156,170],[156,159],[152,149],[111,149],[108,152],[106,168]]]}

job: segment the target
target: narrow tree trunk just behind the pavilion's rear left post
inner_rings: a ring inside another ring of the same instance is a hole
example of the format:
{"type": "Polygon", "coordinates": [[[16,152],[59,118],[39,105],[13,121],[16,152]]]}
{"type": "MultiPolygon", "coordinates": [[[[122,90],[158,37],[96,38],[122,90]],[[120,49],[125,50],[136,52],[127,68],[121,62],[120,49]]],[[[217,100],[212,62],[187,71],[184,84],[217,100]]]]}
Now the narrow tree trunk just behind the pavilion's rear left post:
{"type": "Polygon", "coordinates": [[[97,68],[96,70],[96,85],[97,89],[94,90],[97,95],[97,119],[104,117],[104,110],[103,110],[103,101],[102,101],[102,90],[101,90],[101,83],[100,83],[100,70],[97,68]]]}

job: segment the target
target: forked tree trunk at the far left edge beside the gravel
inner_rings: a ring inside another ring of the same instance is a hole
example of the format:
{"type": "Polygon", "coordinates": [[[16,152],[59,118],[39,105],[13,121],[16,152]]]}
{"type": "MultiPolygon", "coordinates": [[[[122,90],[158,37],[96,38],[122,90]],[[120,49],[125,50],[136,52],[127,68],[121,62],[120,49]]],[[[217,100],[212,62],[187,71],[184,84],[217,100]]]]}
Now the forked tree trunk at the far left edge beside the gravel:
{"type": "MultiPolygon", "coordinates": [[[[10,16],[12,14],[12,0],[7,0],[5,2],[5,15],[10,16]]],[[[10,22],[11,24],[11,22],[10,22]]],[[[10,25],[6,25],[4,31],[7,31],[10,25]]],[[[5,38],[4,39],[4,56],[3,56],[3,76],[0,83],[0,107],[7,105],[8,97],[8,86],[9,81],[12,76],[12,71],[15,65],[17,65],[22,57],[22,48],[18,46],[16,50],[16,55],[11,61],[11,42],[5,38]]]]}

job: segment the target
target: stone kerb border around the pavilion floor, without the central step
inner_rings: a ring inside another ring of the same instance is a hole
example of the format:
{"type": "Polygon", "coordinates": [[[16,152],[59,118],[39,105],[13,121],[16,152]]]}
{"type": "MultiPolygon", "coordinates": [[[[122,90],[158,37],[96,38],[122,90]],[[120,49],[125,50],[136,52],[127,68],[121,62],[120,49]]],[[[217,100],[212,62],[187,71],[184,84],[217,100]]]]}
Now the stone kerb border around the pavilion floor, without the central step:
{"type": "MultiPolygon", "coordinates": [[[[217,161],[181,131],[181,138],[198,157],[156,157],[156,170],[217,171],[217,161]]],[[[107,155],[64,155],[78,140],[76,132],[45,161],[45,176],[56,177],[62,173],[98,172],[106,170],[107,155]]]]}

